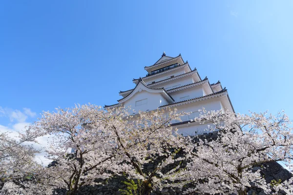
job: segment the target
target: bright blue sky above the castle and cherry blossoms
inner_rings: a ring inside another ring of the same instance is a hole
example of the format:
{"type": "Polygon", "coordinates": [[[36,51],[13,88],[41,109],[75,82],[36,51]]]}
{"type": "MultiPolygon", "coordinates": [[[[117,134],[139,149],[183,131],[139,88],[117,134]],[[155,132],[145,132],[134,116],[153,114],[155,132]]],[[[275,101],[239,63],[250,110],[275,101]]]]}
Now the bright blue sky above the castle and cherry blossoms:
{"type": "Polygon", "coordinates": [[[114,104],[162,53],[227,87],[238,113],[293,118],[293,2],[1,1],[0,128],[114,104]]]}

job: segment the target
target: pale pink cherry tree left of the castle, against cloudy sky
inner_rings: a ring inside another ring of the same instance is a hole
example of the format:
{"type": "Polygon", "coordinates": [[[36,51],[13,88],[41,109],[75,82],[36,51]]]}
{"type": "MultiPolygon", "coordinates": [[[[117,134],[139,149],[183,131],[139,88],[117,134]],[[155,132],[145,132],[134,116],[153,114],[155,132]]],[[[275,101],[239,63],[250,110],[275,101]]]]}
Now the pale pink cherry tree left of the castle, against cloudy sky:
{"type": "Polygon", "coordinates": [[[113,165],[116,146],[105,128],[108,115],[95,105],[44,112],[30,129],[53,137],[46,152],[54,165],[39,170],[38,183],[46,189],[66,189],[67,195],[73,195],[82,186],[95,184],[95,179],[110,176],[106,171],[113,165]]]}

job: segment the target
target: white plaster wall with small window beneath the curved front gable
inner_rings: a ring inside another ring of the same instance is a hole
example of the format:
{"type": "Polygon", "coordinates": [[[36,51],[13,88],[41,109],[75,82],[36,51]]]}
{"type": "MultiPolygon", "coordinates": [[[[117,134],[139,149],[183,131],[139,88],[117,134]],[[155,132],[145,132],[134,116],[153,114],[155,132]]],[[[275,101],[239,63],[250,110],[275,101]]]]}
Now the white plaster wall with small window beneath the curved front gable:
{"type": "Polygon", "coordinates": [[[150,93],[145,90],[135,93],[134,96],[124,102],[125,107],[131,106],[130,114],[133,114],[132,110],[135,110],[136,112],[138,112],[139,110],[156,110],[159,106],[166,104],[168,104],[167,100],[160,93],[150,93]],[[135,106],[136,101],[146,98],[147,104],[135,106]]]}

